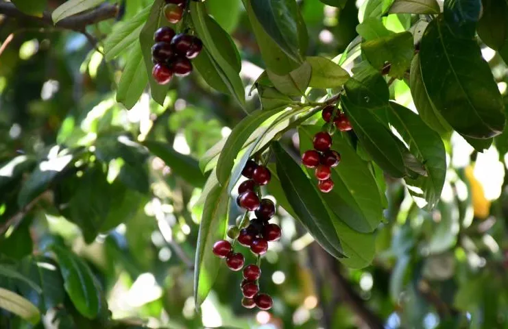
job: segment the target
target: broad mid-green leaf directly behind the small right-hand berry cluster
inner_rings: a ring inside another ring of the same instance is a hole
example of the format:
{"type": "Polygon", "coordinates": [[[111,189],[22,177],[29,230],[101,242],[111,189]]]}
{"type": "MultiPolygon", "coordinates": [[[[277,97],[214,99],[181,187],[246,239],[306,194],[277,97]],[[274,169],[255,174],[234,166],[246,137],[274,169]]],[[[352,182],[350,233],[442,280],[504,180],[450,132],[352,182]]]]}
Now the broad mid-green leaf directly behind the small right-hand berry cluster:
{"type": "MultiPolygon", "coordinates": [[[[317,125],[300,126],[300,152],[312,148],[312,138],[321,130],[317,125]]],[[[332,149],[341,154],[341,162],[332,170],[335,183],[332,192],[321,196],[332,212],[350,228],[357,232],[373,232],[383,220],[380,193],[385,191],[378,191],[367,163],[356,155],[345,137],[336,133],[332,142],[332,149]]]]}

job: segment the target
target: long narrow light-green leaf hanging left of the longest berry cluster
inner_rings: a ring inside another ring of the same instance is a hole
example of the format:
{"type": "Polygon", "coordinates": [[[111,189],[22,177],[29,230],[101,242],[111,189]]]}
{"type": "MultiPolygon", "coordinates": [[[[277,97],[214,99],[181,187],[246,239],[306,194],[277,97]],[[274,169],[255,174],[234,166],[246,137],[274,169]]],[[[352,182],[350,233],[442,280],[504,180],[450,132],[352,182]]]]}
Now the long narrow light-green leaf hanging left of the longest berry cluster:
{"type": "Polygon", "coordinates": [[[227,184],[216,184],[206,197],[199,232],[194,267],[194,300],[196,308],[201,306],[212,289],[221,266],[220,258],[212,253],[215,241],[224,239],[228,223],[230,197],[227,184]]]}

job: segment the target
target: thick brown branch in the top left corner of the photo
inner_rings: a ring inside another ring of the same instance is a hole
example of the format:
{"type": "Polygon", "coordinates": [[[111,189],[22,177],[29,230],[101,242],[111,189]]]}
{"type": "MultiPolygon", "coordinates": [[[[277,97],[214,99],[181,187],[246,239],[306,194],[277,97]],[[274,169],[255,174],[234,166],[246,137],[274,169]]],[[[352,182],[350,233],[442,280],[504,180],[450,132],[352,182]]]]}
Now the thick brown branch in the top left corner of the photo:
{"type": "Polygon", "coordinates": [[[19,21],[25,21],[26,23],[51,25],[62,29],[71,29],[76,32],[83,32],[88,25],[112,19],[117,16],[118,12],[119,9],[117,5],[103,3],[93,10],[88,10],[87,12],[67,17],[66,19],[62,19],[62,21],[53,24],[51,12],[43,12],[42,17],[32,16],[21,12],[10,2],[0,1],[0,14],[12,17],[13,19],[18,19],[19,21]]]}

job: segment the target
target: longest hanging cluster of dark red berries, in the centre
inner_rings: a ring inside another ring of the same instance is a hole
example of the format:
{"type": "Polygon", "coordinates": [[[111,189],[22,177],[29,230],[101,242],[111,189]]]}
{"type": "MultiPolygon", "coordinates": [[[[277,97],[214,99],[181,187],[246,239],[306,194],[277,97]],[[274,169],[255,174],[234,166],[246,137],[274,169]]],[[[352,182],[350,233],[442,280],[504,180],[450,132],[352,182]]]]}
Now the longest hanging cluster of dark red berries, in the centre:
{"type": "MultiPolygon", "coordinates": [[[[275,204],[270,199],[259,199],[256,189],[258,186],[268,184],[271,173],[267,167],[256,164],[249,160],[243,168],[242,175],[248,180],[239,185],[237,204],[247,211],[254,211],[255,219],[248,221],[248,215],[241,217],[237,226],[228,229],[228,236],[233,241],[238,241],[256,255],[263,255],[268,250],[269,241],[280,239],[280,227],[268,221],[275,215],[275,204]]],[[[232,271],[240,271],[245,263],[245,258],[239,252],[234,252],[231,243],[226,240],[217,241],[213,245],[213,253],[221,258],[226,258],[226,265],[232,271]]],[[[243,281],[241,291],[243,293],[242,305],[245,308],[258,306],[262,310],[269,310],[273,304],[270,295],[259,293],[258,279],[261,269],[258,265],[247,265],[243,268],[243,281]]]]}

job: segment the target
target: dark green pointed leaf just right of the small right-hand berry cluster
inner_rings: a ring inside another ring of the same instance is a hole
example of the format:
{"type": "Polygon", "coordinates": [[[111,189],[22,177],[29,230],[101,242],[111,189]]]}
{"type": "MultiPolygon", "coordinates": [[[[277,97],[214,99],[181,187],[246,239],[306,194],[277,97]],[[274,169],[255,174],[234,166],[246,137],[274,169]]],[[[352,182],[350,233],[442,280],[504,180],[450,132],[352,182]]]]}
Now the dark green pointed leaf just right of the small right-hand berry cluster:
{"type": "Polygon", "coordinates": [[[342,97],[341,103],[354,133],[379,167],[394,178],[404,177],[406,171],[396,137],[367,108],[354,105],[349,97],[342,97]]]}

